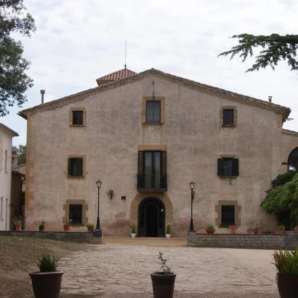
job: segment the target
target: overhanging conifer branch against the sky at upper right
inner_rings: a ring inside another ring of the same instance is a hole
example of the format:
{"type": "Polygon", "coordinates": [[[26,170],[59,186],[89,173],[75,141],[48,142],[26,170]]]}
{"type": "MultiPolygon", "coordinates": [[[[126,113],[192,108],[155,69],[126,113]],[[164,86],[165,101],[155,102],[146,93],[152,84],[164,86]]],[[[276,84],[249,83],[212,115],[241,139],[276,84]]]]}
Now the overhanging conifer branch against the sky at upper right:
{"type": "Polygon", "coordinates": [[[297,50],[298,35],[252,35],[239,34],[233,35],[231,38],[238,38],[239,44],[231,48],[231,50],[221,53],[219,56],[228,56],[233,59],[239,55],[242,62],[248,56],[253,56],[254,48],[262,48],[263,50],[256,56],[255,63],[246,72],[258,71],[260,68],[270,66],[273,70],[281,60],[287,61],[292,70],[298,70],[297,50]]]}

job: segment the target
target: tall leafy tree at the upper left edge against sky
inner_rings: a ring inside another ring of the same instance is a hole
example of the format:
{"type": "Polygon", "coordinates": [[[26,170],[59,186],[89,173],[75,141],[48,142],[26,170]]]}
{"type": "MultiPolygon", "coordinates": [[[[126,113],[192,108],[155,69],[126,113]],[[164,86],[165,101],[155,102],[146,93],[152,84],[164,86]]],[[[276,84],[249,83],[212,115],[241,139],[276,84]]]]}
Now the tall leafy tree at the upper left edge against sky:
{"type": "Polygon", "coordinates": [[[23,0],[0,0],[0,116],[9,113],[9,106],[21,107],[27,101],[24,92],[33,86],[25,74],[30,62],[22,57],[23,46],[11,37],[14,32],[30,37],[35,31],[34,19],[25,11],[23,0]]]}

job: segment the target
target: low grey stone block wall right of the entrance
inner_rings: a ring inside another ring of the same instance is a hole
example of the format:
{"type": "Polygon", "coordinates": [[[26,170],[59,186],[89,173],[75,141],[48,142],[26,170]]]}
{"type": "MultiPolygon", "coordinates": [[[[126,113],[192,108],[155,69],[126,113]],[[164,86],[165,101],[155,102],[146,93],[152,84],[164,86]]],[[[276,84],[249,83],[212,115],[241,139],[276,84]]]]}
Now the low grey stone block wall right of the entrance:
{"type": "Polygon", "coordinates": [[[298,233],[286,231],[284,235],[197,234],[196,232],[188,231],[187,246],[295,249],[298,246],[298,233]]]}

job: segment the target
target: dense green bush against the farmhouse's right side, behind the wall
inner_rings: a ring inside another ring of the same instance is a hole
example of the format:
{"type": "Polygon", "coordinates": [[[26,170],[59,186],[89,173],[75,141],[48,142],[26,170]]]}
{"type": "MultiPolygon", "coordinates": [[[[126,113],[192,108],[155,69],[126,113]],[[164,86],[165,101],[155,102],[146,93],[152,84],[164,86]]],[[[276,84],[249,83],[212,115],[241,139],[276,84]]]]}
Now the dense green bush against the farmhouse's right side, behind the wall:
{"type": "Polygon", "coordinates": [[[289,229],[294,221],[298,221],[298,173],[289,171],[278,175],[271,184],[261,206],[289,229]]]}

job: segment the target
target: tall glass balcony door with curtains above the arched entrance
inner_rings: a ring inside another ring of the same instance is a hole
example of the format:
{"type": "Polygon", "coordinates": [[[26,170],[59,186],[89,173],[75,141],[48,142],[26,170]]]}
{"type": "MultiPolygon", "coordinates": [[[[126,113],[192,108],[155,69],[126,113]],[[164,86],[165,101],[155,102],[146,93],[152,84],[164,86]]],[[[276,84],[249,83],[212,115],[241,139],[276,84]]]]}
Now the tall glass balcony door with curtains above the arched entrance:
{"type": "Polygon", "coordinates": [[[160,188],[160,151],[145,152],[145,188],[160,188]]]}

